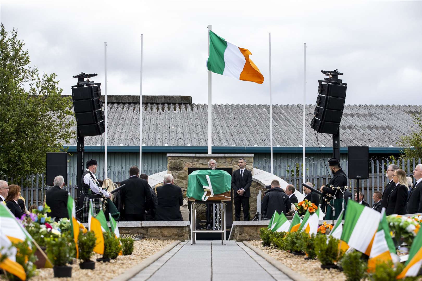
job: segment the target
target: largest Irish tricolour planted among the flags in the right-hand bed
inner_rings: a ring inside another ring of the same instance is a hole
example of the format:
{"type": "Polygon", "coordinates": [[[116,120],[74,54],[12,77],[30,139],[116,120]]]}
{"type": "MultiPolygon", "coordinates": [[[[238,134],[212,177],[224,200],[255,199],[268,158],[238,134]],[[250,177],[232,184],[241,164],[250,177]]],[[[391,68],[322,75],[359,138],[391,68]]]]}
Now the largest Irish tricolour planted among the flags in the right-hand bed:
{"type": "Polygon", "coordinates": [[[347,202],[341,241],[369,256],[381,214],[355,201],[347,202]]]}

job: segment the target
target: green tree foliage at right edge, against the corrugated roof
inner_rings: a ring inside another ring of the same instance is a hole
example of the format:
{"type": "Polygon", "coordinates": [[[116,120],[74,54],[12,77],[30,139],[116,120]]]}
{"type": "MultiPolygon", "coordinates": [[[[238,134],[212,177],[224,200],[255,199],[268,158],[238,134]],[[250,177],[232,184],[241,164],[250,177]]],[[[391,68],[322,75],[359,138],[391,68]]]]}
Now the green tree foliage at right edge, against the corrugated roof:
{"type": "Polygon", "coordinates": [[[422,113],[413,114],[413,123],[418,128],[413,129],[409,136],[401,136],[397,145],[405,147],[402,158],[422,158],[422,113]]]}

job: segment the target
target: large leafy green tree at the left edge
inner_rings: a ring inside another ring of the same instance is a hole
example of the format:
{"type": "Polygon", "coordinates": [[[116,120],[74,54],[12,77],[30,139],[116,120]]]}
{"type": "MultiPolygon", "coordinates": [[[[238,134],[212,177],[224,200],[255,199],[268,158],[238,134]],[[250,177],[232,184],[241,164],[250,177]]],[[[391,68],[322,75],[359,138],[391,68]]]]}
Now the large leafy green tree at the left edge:
{"type": "Polygon", "coordinates": [[[46,153],[59,152],[75,132],[71,97],[62,97],[55,73],[30,66],[15,29],[0,30],[0,177],[41,173],[46,153]]]}

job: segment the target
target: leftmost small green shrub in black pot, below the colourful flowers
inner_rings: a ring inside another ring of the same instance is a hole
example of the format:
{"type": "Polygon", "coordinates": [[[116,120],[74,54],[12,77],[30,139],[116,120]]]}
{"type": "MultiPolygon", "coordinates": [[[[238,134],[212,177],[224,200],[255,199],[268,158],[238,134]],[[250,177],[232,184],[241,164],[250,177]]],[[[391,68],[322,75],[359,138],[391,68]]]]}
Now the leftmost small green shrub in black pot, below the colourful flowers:
{"type": "Polygon", "coordinates": [[[47,244],[47,256],[53,263],[54,277],[72,277],[72,267],[66,265],[70,259],[70,245],[66,237],[51,239],[47,244]]]}

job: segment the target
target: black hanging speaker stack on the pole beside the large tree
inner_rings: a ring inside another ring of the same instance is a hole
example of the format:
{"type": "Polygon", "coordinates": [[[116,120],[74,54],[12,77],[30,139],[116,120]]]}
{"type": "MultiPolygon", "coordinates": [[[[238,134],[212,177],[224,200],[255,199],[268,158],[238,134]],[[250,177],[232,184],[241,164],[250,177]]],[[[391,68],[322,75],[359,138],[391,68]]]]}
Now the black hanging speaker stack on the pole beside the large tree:
{"type": "Polygon", "coordinates": [[[79,136],[97,136],[104,133],[104,112],[101,102],[101,83],[72,86],[73,111],[79,136]]]}

